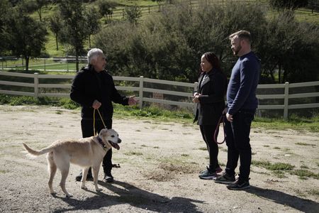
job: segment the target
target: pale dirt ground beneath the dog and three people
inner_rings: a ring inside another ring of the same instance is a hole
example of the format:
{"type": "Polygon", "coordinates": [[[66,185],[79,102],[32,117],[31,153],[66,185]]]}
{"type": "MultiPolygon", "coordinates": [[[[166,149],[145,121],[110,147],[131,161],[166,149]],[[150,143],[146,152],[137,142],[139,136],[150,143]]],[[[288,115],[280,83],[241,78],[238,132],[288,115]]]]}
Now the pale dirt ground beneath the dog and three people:
{"type": "MultiPolygon", "coordinates": [[[[114,119],[122,139],[113,150],[115,182],[93,182],[81,190],[74,180],[79,166],[71,165],[67,198],[57,173],[52,196],[47,187],[45,155],[30,159],[22,142],[40,149],[57,139],[80,138],[79,111],[55,107],[0,106],[0,212],[319,212],[319,180],[283,178],[252,165],[250,189],[227,190],[198,173],[208,152],[198,126],[140,119],[114,119]]],[[[253,160],[289,163],[293,170],[319,173],[319,133],[252,129],[253,160]]],[[[220,145],[225,168],[227,148],[220,145]]],[[[103,178],[100,170],[99,180],[103,178]]]]}

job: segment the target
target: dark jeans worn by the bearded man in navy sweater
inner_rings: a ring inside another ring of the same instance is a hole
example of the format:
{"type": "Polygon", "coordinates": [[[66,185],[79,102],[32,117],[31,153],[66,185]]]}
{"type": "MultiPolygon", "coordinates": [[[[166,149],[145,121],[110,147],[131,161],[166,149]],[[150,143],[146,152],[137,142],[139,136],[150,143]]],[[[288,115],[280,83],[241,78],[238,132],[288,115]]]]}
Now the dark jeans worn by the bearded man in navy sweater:
{"type": "Polygon", "coordinates": [[[235,175],[240,158],[240,181],[249,180],[252,148],[250,146],[250,125],[254,119],[254,110],[240,110],[233,115],[233,122],[225,121],[226,145],[228,158],[226,173],[235,175]]]}

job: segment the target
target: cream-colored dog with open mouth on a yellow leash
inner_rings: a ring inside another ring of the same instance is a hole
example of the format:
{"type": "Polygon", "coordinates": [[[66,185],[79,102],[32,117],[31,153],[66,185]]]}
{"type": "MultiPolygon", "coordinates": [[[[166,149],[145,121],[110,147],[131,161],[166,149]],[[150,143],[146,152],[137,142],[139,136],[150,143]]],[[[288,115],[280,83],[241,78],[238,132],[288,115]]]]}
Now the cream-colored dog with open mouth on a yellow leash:
{"type": "Polygon", "coordinates": [[[72,197],[65,189],[65,180],[67,180],[67,175],[69,173],[69,164],[74,163],[82,166],[82,189],[86,189],[86,175],[91,167],[93,170],[95,190],[101,191],[97,185],[101,162],[111,146],[116,149],[120,148],[118,143],[121,143],[121,139],[118,138],[118,133],[116,131],[113,129],[102,129],[99,136],[92,136],[79,140],[55,141],[51,146],[43,148],[40,151],[33,150],[28,147],[26,143],[23,143],[23,146],[31,155],[43,155],[44,153],[47,153],[47,163],[50,172],[50,180],[48,182],[50,193],[55,194],[55,191],[52,188],[52,182],[58,168],[62,175],[60,187],[67,197],[72,197]]]}

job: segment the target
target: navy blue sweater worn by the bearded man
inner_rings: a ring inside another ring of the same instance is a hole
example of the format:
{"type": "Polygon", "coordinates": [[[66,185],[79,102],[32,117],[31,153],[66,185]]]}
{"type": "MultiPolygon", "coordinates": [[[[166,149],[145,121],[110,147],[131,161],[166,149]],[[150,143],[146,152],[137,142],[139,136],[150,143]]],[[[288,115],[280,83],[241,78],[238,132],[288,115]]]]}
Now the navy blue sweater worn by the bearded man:
{"type": "Polygon", "coordinates": [[[256,90],[259,81],[260,60],[250,52],[238,58],[227,88],[228,114],[240,109],[256,109],[256,90]]]}

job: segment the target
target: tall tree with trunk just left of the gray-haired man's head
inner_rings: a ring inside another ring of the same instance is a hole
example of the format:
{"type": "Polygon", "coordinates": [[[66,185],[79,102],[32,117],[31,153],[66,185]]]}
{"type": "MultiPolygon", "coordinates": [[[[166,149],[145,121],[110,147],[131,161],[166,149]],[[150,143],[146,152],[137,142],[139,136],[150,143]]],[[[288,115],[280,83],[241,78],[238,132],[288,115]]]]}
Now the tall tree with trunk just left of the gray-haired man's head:
{"type": "Polygon", "coordinates": [[[76,69],[79,71],[79,56],[84,53],[84,41],[89,37],[86,11],[81,0],[59,1],[62,18],[62,43],[69,44],[75,53],[76,69]]]}

